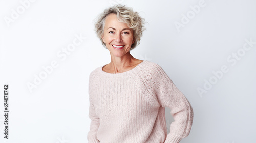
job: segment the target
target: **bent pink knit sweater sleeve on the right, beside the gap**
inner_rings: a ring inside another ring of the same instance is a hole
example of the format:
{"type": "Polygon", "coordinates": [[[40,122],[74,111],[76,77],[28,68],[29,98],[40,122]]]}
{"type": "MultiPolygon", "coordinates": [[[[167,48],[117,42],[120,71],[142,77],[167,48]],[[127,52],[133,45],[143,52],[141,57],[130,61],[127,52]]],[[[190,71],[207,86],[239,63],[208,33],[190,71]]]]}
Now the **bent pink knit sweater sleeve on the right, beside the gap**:
{"type": "Polygon", "coordinates": [[[162,107],[169,107],[174,122],[170,125],[170,133],[167,134],[165,143],[178,143],[189,135],[193,122],[193,109],[183,95],[174,85],[172,80],[159,65],[155,65],[154,93],[162,107]]]}

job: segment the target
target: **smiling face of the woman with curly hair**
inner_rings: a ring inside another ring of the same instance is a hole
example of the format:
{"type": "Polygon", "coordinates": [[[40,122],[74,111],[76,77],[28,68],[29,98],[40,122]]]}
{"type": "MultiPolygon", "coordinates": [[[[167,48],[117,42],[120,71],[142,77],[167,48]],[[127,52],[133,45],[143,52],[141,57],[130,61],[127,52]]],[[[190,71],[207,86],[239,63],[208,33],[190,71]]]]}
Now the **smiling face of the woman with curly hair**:
{"type": "Polygon", "coordinates": [[[119,22],[116,14],[109,14],[105,19],[102,39],[112,56],[122,57],[134,43],[133,30],[126,23],[119,22]]]}

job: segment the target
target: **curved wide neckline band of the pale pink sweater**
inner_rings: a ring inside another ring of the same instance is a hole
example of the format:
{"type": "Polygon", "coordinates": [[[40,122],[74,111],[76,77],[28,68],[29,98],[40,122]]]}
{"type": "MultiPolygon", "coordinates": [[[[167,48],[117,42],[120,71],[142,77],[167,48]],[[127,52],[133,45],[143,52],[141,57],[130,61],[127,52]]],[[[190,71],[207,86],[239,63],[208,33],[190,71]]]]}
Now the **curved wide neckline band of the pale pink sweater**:
{"type": "Polygon", "coordinates": [[[139,69],[141,69],[143,66],[145,66],[149,61],[144,60],[142,61],[140,64],[138,64],[137,66],[135,66],[134,68],[132,68],[131,70],[125,71],[125,72],[121,72],[121,73],[108,73],[102,70],[102,68],[107,65],[103,65],[99,67],[99,71],[100,73],[105,76],[105,77],[123,77],[123,76],[127,76],[127,75],[131,75],[133,73],[136,73],[136,71],[138,71],[139,69]]]}

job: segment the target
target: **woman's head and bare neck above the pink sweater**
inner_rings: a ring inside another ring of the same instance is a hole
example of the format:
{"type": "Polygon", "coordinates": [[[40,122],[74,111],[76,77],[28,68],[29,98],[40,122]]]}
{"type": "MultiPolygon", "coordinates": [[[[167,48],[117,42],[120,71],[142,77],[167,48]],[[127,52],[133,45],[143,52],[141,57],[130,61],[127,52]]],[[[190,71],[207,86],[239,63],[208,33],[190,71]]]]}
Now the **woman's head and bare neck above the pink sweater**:
{"type": "Polygon", "coordinates": [[[102,68],[103,71],[121,73],[142,62],[134,58],[130,51],[140,43],[145,30],[144,21],[138,12],[121,5],[114,5],[99,15],[95,23],[97,37],[111,55],[111,62],[102,68]]]}

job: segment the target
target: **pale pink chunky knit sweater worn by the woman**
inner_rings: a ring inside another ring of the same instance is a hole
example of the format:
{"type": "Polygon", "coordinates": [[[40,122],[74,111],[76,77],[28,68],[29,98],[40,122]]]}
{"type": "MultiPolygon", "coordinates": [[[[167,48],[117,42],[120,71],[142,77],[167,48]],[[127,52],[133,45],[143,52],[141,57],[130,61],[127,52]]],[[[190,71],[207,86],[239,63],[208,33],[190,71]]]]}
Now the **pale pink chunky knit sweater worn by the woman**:
{"type": "Polygon", "coordinates": [[[174,143],[188,136],[193,109],[158,64],[145,60],[122,73],[102,67],[89,77],[89,143],[174,143]],[[164,107],[175,120],[169,134],[164,107]]]}

